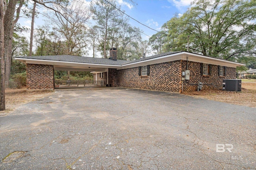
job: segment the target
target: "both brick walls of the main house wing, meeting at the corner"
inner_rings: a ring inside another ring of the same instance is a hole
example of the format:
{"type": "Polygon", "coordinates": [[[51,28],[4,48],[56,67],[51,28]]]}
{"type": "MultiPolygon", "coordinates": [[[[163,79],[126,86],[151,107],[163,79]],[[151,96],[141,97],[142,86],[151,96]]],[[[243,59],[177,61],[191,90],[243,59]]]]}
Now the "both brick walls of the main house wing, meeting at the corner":
{"type": "MultiPolygon", "coordinates": [[[[188,63],[190,80],[183,81],[184,91],[197,90],[198,81],[203,83],[203,89],[222,89],[223,79],[235,79],[236,68],[226,67],[225,77],[218,76],[218,65],[212,65],[211,76],[201,76],[200,63],[188,63]]],[[[118,86],[182,92],[182,71],[186,70],[186,61],[172,61],[150,65],[149,76],[139,76],[138,67],[118,70],[118,86]]]]}

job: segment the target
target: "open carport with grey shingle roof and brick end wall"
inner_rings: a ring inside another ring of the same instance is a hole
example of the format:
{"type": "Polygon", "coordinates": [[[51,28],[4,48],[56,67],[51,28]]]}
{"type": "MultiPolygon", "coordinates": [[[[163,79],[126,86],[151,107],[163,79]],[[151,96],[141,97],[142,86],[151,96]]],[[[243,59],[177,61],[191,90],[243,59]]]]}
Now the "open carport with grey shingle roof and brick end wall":
{"type": "MultiPolygon", "coordinates": [[[[112,51],[116,52],[115,49],[112,51]]],[[[111,51],[110,51],[111,52],[111,51]]],[[[98,84],[103,86],[116,86],[116,70],[120,66],[128,61],[116,60],[110,57],[110,59],[92,58],[92,57],[80,57],[72,55],[50,55],[50,56],[26,56],[16,57],[16,60],[26,64],[27,72],[27,90],[53,90],[55,88],[54,82],[54,70],[62,71],[88,71],[97,74],[104,73],[104,84],[99,79],[96,83],[92,82],[78,82],[78,84],[98,84]]],[[[101,78],[102,79],[102,78],[101,78]]],[[[66,82],[70,86],[74,87],[75,84],[66,82]],[[73,86],[74,85],[74,86],[73,86]]],[[[65,84],[65,83],[64,83],[65,84]]]]}

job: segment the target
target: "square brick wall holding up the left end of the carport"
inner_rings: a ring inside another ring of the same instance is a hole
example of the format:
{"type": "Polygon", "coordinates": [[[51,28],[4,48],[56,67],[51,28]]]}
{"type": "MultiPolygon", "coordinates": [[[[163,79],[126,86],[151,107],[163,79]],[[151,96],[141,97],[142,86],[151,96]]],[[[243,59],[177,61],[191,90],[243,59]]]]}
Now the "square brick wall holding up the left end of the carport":
{"type": "Polygon", "coordinates": [[[27,89],[53,89],[53,65],[26,64],[27,89]]]}

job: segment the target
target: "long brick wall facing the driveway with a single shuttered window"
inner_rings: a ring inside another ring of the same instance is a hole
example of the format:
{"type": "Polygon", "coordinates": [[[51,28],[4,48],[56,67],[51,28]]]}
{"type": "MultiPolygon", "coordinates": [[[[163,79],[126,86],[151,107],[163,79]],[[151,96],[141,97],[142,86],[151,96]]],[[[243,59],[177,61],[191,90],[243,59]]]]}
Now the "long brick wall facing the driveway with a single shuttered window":
{"type": "Polygon", "coordinates": [[[122,87],[141,88],[180,92],[180,61],[150,65],[149,76],[139,76],[138,67],[118,70],[118,85],[122,87]]]}

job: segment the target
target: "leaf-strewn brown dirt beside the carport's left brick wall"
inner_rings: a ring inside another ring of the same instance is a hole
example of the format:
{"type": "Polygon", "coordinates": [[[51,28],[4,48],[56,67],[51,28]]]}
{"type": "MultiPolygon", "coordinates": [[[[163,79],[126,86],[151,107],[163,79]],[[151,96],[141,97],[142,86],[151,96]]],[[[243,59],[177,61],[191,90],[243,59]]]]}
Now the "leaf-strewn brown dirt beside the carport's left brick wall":
{"type": "Polygon", "coordinates": [[[54,92],[51,91],[34,91],[27,92],[26,89],[6,89],[5,90],[5,106],[6,110],[0,111],[0,116],[6,115],[13,111],[21,104],[35,101],[39,98],[49,96],[54,92]]]}

